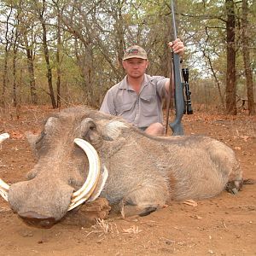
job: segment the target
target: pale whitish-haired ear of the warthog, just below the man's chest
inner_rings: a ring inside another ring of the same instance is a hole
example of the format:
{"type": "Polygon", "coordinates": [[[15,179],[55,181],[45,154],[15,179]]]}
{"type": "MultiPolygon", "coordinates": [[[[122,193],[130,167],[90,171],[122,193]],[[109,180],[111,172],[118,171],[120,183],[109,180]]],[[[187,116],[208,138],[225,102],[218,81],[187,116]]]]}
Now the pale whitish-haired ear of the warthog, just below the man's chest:
{"type": "Polygon", "coordinates": [[[112,120],[104,127],[102,131],[103,137],[106,140],[113,141],[118,138],[122,131],[127,130],[129,125],[118,120],[112,120]]]}

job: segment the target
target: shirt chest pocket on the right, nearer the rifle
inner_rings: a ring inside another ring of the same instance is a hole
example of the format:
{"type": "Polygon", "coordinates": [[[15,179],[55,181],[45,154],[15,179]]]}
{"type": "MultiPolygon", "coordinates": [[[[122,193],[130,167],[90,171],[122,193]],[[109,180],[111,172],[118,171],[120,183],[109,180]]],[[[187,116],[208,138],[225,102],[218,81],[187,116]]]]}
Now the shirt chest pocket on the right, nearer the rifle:
{"type": "Polygon", "coordinates": [[[143,116],[155,117],[158,116],[158,105],[156,94],[141,97],[143,116]]]}

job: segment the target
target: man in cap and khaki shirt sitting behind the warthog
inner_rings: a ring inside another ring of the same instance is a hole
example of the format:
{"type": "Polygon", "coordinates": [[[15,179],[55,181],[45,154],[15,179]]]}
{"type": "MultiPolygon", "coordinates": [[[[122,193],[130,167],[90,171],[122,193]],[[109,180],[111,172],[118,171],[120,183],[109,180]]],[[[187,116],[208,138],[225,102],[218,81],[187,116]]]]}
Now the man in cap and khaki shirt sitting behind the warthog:
{"type": "MultiPolygon", "coordinates": [[[[184,45],[180,39],[170,42],[169,47],[183,55],[184,45]]],[[[122,116],[150,135],[164,135],[162,100],[168,95],[170,79],[145,73],[148,57],[138,45],[125,50],[123,67],[125,79],[108,90],[100,111],[122,116]]]]}

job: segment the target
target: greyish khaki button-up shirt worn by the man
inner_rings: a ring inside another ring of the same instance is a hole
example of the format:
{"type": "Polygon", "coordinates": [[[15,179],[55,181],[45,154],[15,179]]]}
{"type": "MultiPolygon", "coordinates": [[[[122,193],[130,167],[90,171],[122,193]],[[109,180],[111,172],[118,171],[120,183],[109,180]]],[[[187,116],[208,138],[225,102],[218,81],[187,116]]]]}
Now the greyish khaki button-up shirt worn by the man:
{"type": "Polygon", "coordinates": [[[113,85],[104,97],[100,111],[122,116],[139,128],[159,122],[163,123],[162,99],[167,96],[166,79],[144,74],[143,86],[137,94],[127,83],[127,76],[113,85]]]}

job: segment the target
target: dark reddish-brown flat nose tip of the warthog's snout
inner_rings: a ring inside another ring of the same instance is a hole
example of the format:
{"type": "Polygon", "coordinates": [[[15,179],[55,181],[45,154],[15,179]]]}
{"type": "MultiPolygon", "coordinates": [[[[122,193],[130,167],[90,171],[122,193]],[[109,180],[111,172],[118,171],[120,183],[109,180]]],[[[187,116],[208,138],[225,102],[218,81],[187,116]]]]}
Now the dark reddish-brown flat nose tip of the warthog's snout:
{"type": "Polygon", "coordinates": [[[39,228],[51,228],[55,223],[55,218],[47,217],[37,212],[18,212],[20,218],[22,218],[26,224],[37,226],[39,228]]]}

